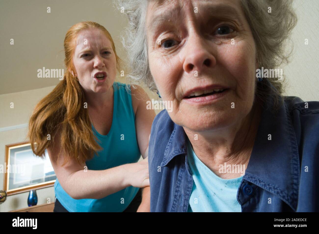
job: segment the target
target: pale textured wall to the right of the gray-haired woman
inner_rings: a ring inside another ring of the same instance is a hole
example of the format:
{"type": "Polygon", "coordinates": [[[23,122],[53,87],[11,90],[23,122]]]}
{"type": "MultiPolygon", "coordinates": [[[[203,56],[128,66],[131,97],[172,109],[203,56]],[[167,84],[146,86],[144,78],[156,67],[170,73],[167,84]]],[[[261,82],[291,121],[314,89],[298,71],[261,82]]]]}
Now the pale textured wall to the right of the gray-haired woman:
{"type": "Polygon", "coordinates": [[[284,67],[288,87],[286,95],[304,101],[319,101],[319,1],[295,0],[298,23],[293,30],[291,62],[284,67]],[[308,39],[308,45],[305,45],[308,39]]]}

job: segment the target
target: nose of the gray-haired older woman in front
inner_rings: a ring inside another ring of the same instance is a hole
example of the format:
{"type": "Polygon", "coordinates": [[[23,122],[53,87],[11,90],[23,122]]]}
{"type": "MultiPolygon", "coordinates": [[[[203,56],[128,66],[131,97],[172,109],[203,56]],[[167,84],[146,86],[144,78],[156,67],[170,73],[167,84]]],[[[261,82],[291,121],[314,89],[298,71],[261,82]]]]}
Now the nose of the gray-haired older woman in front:
{"type": "Polygon", "coordinates": [[[216,65],[216,58],[207,48],[207,45],[197,32],[189,36],[185,46],[185,60],[183,69],[187,73],[197,71],[201,73],[206,68],[212,68],[216,65]]]}

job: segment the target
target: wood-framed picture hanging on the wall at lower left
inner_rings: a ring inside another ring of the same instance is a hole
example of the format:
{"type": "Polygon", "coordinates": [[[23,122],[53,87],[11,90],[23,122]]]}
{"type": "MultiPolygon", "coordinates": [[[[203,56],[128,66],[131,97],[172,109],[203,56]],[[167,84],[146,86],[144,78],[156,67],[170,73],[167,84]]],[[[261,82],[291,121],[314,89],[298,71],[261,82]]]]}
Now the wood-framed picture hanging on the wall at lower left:
{"type": "Polygon", "coordinates": [[[47,150],[45,159],[35,156],[29,142],[6,145],[4,190],[7,195],[54,185],[56,174],[47,150]]]}

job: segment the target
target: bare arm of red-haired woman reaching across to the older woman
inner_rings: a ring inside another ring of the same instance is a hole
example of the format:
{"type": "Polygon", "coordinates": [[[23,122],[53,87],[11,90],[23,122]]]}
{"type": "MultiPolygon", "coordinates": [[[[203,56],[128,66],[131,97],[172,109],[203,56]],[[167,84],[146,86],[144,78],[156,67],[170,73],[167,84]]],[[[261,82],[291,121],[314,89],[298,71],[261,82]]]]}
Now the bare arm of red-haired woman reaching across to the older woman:
{"type": "Polygon", "coordinates": [[[59,162],[56,160],[60,151],[59,134],[54,138],[54,145],[48,148],[48,154],[57,179],[72,198],[100,199],[128,186],[149,186],[147,160],[106,170],[89,170],[85,163],[79,164],[74,159],[69,159],[62,166],[65,155],[60,155],[59,162]]]}

